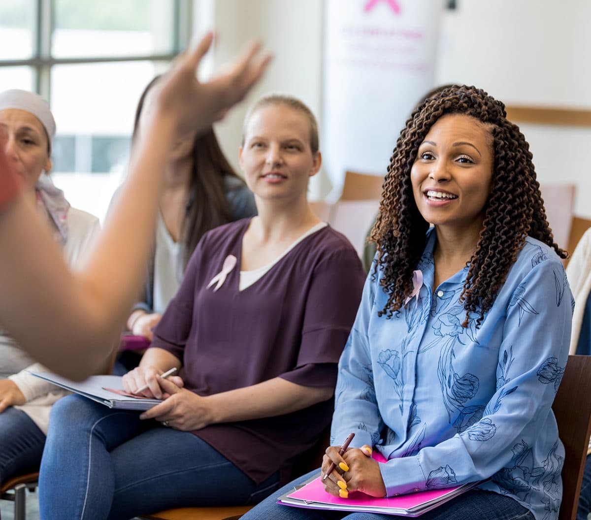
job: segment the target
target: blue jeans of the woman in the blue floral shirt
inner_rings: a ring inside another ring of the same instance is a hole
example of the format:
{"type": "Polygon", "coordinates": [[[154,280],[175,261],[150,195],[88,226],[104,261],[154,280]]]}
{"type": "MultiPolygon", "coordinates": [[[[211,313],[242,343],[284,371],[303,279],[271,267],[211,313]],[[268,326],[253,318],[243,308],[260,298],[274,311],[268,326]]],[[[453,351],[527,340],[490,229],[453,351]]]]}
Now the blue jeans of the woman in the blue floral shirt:
{"type": "MultiPolygon", "coordinates": [[[[280,505],[277,499],[320,470],[300,477],[273,493],[241,520],[391,520],[400,516],[380,515],[378,513],[343,513],[322,511],[320,509],[301,509],[280,505]]],[[[421,520],[534,520],[534,515],[517,500],[490,491],[470,490],[433,511],[420,516],[421,520]]]]}

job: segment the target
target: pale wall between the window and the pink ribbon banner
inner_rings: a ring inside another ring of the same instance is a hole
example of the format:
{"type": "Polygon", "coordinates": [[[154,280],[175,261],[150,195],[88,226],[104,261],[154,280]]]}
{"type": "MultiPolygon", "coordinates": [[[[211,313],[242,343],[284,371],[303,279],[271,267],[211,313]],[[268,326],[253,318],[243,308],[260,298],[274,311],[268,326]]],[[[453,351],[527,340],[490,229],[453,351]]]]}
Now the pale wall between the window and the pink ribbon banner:
{"type": "MultiPolygon", "coordinates": [[[[322,114],[323,0],[196,0],[197,31],[215,27],[219,32],[216,65],[227,63],[242,44],[261,38],[274,59],[254,92],[217,125],[220,144],[238,170],[242,121],[248,106],[268,92],[286,92],[322,114]]],[[[311,194],[327,193],[330,183],[321,173],[312,179],[311,194]]]]}

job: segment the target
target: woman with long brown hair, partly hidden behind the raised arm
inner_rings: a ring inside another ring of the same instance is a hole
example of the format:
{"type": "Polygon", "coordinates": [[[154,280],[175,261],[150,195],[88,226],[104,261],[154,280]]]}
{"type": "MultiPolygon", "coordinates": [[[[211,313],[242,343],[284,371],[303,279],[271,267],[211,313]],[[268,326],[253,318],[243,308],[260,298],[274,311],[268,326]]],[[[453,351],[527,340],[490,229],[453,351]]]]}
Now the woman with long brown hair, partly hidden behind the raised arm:
{"type": "MultiPolygon", "coordinates": [[[[144,109],[150,111],[150,90],[157,79],[148,84],[139,98],[134,142],[144,109]]],[[[149,341],[152,329],[180,287],[187,262],[203,233],[256,215],[252,193],[226,159],[213,128],[178,141],[168,156],[164,177],[144,294],[127,320],[132,333],[149,341]]],[[[129,355],[120,361],[131,369],[137,366],[139,358],[129,355]]]]}

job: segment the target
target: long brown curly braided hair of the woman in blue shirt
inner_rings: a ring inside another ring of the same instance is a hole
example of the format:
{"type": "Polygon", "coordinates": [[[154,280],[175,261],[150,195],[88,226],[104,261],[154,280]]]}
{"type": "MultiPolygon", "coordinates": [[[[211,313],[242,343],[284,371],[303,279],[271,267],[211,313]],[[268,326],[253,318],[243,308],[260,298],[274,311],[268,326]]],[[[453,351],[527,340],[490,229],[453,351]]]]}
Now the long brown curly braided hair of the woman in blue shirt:
{"type": "Polygon", "coordinates": [[[518,252],[531,236],[566,258],[548,226],[540,184],[535,177],[530,145],[517,125],[506,118],[505,105],[473,86],[449,86],[427,96],[411,113],[392,154],[384,181],[378,218],[370,240],[377,245],[374,280],[388,301],[378,312],[391,318],[413,290],[413,270],[426,246],[429,224],[418,211],[411,184],[411,168],[418,148],[441,116],[463,114],[482,122],[492,137],[493,189],[484,208],[476,249],[468,262],[460,303],[470,314],[484,314],[495,301],[518,252]]]}

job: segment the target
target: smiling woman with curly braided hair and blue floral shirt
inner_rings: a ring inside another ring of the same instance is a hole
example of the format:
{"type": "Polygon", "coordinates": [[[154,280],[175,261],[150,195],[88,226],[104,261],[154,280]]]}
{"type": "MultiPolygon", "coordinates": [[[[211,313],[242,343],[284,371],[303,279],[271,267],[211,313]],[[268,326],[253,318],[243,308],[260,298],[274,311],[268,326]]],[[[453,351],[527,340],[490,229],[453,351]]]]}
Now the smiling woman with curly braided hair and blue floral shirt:
{"type": "MultiPolygon", "coordinates": [[[[564,447],[551,405],[572,297],[529,145],[501,102],[451,86],[415,109],[371,236],[331,444],[355,437],[342,456],[327,448],[324,490],[346,505],[351,492],[472,484],[421,518],[557,519],[564,447]]],[[[389,518],[275,505],[286,492],[243,518],[389,518]]]]}

